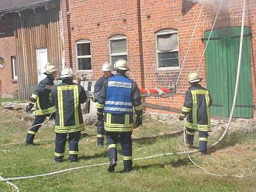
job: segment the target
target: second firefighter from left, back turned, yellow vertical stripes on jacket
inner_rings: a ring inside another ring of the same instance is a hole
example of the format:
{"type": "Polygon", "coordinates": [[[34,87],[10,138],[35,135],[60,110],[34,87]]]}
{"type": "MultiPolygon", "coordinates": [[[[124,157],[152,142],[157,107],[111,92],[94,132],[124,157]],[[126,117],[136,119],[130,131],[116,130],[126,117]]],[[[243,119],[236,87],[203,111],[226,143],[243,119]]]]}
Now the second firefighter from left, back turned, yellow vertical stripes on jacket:
{"type": "Polygon", "coordinates": [[[69,141],[69,162],[78,161],[78,141],[81,131],[84,130],[81,104],[86,102],[86,93],[83,86],[73,83],[71,68],[61,71],[62,83],[52,88],[52,104],[56,106],[55,153],[56,163],[62,163],[65,143],[69,141]]]}

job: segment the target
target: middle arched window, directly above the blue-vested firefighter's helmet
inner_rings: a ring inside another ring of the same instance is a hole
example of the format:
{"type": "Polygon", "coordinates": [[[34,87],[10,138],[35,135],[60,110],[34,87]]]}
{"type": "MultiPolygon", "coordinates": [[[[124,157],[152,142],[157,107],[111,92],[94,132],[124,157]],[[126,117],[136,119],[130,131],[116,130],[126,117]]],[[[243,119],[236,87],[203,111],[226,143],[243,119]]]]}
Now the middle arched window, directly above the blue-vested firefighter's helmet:
{"type": "Polygon", "coordinates": [[[127,39],[124,35],[115,35],[109,38],[110,61],[114,66],[116,60],[127,59],[127,39]]]}

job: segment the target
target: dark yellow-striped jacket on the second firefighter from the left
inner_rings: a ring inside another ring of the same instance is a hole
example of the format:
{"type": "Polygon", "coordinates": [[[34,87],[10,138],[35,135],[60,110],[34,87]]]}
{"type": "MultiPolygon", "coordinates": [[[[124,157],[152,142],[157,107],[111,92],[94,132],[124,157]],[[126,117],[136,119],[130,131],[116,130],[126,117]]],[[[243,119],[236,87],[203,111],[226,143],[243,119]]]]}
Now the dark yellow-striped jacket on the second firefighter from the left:
{"type": "Polygon", "coordinates": [[[52,104],[56,106],[55,132],[77,132],[84,130],[81,103],[86,101],[83,86],[63,79],[52,88],[52,104]]]}

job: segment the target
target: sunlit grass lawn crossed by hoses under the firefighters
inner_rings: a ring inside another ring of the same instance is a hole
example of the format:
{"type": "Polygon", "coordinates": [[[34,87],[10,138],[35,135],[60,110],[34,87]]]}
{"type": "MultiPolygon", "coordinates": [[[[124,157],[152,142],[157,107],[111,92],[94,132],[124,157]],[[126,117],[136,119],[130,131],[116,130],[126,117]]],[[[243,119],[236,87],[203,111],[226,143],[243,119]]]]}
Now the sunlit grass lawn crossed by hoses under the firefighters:
{"type": "MultiPolygon", "coordinates": [[[[1,102],[1,101],[0,101],[1,102]]],[[[0,145],[24,140],[31,122],[22,120],[24,113],[0,108],[0,145]]],[[[115,173],[108,173],[108,165],[83,168],[49,177],[13,180],[20,191],[255,191],[256,170],[249,177],[214,177],[193,165],[181,152],[182,123],[166,125],[152,118],[145,118],[143,127],[133,132],[134,158],[174,152],[173,156],[155,157],[134,161],[134,171],[124,173],[118,162],[115,173]]],[[[40,141],[40,146],[8,145],[0,147],[0,176],[4,178],[38,175],[67,168],[97,163],[108,163],[107,147],[96,147],[96,127],[86,127],[88,137],[79,141],[79,163],[68,163],[68,145],[65,162],[56,164],[54,140],[40,141]],[[19,147],[19,150],[17,148],[19,147]],[[3,150],[10,150],[4,152],[3,150]]],[[[40,127],[36,139],[54,138],[52,124],[40,127]]],[[[234,133],[206,156],[191,155],[199,166],[218,174],[247,175],[256,166],[256,132],[234,133]]],[[[197,138],[197,137],[196,137],[197,138]]],[[[209,138],[209,145],[218,138],[209,138]]],[[[198,146],[197,139],[195,146],[198,146]]],[[[122,160],[118,145],[118,159],[122,160]]],[[[0,182],[0,191],[15,191],[0,182]]]]}

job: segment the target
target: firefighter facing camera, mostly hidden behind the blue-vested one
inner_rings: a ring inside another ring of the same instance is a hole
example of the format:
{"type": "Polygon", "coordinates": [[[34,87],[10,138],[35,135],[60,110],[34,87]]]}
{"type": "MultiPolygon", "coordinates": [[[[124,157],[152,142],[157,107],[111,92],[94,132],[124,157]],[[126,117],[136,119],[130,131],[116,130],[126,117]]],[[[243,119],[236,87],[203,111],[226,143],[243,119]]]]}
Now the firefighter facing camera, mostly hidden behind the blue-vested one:
{"type": "MultiPolygon", "coordinates": [[[[104,82],[109,78],[113,77],[114,75],[111,74],[113,68],[112,65],[109,63],[103,63],[102,65],[102,72],[103,76],[100,77],[94,86],[94,95],[97,95],[100,92],[100,89],[102,88],[102,85],[104,82]]],[[[97,99],[95,100],[97,102],[97,99]]],[[[98,120],[97,124],[97,146],[103,147],[104,145],[104,138],[105,138],[105,131],[104,131],[104,123],[102,120],[98,120]]]]}

